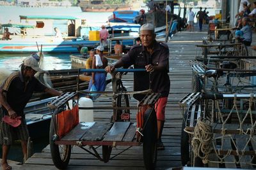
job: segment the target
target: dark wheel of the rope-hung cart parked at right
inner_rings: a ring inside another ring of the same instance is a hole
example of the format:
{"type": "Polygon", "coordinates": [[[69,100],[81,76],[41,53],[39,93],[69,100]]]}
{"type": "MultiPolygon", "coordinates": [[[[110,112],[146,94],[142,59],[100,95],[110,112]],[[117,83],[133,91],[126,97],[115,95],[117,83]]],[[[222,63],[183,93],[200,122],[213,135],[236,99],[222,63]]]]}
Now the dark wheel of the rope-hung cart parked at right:
{"type": "Polygon", "coordinates": [[[182,120],[182,128],[181,128],[180,154],[181,154],[182,166],[185,166],[186,164],[188,164],[188,161],[189,161],[189,136],[187,132],[183,131],[186,127],[187,117],[188,117],[188,110],[184,113],[184,120],[182,120]]]}

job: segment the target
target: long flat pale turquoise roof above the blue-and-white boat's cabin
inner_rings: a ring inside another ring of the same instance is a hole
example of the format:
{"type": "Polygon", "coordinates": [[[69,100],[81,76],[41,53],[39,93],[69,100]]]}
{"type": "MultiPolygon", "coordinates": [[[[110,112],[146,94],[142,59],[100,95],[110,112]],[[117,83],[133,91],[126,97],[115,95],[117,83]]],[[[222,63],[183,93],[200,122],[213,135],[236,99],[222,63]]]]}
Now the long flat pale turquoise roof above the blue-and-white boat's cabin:
{"type": "Polygon", "coordinates": [[[54,15],[20,15],[20,20],[76,20],[77,17],[72,16],[54,16],[54,15]]]}

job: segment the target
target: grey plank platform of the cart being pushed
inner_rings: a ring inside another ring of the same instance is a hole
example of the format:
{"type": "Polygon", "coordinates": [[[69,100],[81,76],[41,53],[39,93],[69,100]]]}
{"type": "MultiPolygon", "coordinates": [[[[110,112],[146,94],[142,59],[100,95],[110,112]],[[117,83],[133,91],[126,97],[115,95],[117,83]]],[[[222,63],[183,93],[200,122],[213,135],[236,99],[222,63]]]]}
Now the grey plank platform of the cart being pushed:
{"type": "Polygon", "coordinates": [[[136,124],[131,122],[80,122],[57,145],[135,146],[136,124]]]}

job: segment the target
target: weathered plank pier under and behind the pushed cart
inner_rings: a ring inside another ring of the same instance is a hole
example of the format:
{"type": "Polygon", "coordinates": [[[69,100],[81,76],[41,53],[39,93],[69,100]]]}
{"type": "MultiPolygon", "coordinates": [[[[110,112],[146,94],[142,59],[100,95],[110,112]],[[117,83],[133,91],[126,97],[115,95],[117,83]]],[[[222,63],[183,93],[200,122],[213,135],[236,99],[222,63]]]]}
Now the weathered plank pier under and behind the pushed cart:
{"type": "MultiPolygon", "coordinates": [[[[178,101],[186,94],[191,92],[191,67],[189,60],[195,58],[195,45],[202,42],[205,32],[179,32],[168,42],[170,49],[170,80],[171,90],[166,106],[166,122],[163,129],[163,143],[165,150],[158,151],[157,169],[168,169],[170,167],[180,167],[180,134],[182,126],[182,112],[178,101]]],[[[122,79],[125,87],[129,91],[133,87],[133,75],[127,74],[122,79]]],[[[106,90],[111,90],[108,85],[106,90]]],[[[109,97],[100,97],[94,106],[104,106],[109,103],[109,97]]],[[[136,104],[132,98],[132,105],[136,104]]],[[[132,112],[132,122],[135,122],[135,112],[132,112]]],[[[109,122],[111,111],[95,110],[94,120],[109,122]]],[[[116,146],[111,153],[122,152],[126,146],[116,146]]],[[[101,147],[97,148],[101,153],[101,147]]],[[[143,165],[142,146],[132,146],[125,152],[104,163],[97,160],[92,155],[84,152],[81,148],[74,146],[67,169],[145,169],[143,165]]],[[[20,169],[56,169],[51,159],[49,146],[42,150],[42,153],[35,153],[29,158],[20,169]]]]}

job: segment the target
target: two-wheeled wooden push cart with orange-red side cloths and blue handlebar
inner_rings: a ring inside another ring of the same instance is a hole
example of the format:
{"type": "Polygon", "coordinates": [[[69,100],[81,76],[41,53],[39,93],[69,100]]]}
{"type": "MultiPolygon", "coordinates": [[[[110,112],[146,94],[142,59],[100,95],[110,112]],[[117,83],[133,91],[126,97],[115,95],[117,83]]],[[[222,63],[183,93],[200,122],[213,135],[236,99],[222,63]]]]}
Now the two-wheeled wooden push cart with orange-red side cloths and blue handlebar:
{"type": "MultiPolygon", "coordinates": [[[[145,90],[145,98],[138,106],[129,106],[129,95],[139,92],[127,92],[122,85],[122,73],[145,71],[145,69],[116,69],[112,73],[113,92],[97,92],[111,95],[109,106],[84,108],[79,106],[79,96],[86,92],[66,92],[49,103],[53,110],[50,127],[50,148],[54,165],[65,169],[70,160],[72,146],[78,146],[97,159],[108,162],[119,155],[111,157],[115,146],[143,145],[143,160],[146,169],[154,169],[157,160],[157,120],[154,105],[159,94],[145,90]],[[76,99],[78,101],[76,102],[76,99]],[[72,107],[67,104],[72,101],[72,107]],[[70,109],[72,108],[72,109],[70,109]],[[113,118],[109,122],[79,122],[79,110],[113,110],[113,118]],[[136,122],[130,121],[129,110],[137,110],[136,122]],[[90,149],[85,146],[90,146],[90,149]],[[97,148],[102,146],[102,154],[97,148]]],[[[79,73],[104,72],[104,69],[79,69],[79,73]]],[[[92,92],[90,92],[92,93],[92,92]]]]}

